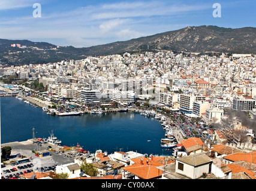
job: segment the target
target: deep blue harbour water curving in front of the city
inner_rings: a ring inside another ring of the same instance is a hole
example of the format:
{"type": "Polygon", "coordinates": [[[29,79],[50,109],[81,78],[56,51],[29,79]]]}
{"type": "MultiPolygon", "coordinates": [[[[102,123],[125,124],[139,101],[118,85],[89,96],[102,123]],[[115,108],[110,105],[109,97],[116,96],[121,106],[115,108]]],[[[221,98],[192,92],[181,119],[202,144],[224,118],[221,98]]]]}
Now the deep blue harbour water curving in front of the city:
{"type": "Polygon", "coordinates": [[[37,138],[49,137],[53,130],[62,145],[79,143],[90,152],[132,150],[148,155],[171,155],[170,150],[160,148],[165,131],[154,118],[133,112],[53,116],[15,97],[1,97],[1,143],[28,140],[32,138],[33,127],[37,138]]]}

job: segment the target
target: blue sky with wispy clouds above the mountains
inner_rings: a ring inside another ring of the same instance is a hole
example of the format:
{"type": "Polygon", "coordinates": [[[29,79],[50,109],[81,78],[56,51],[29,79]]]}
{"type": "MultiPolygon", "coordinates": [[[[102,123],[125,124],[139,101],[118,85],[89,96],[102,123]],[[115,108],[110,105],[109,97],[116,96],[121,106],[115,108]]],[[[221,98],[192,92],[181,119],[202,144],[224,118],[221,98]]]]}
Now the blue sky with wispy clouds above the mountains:
{"type": "Polygon", "coordinates": [[[1,0],[0,38],[90,47],[186,26],[256,27],[256,1],[1,0]],[[33,4],[41,17],[33,17],[33,4]],[[221,5],[215,18],[213,4],[221,5]]]}

